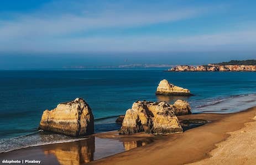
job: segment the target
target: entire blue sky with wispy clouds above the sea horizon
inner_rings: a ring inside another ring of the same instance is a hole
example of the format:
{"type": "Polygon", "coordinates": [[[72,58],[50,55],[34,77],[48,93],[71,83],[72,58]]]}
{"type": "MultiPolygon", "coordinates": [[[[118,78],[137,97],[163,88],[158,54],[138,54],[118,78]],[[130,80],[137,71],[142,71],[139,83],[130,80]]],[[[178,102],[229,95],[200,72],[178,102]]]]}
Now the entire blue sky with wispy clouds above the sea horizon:
{"type": "Polygon", "coordinates": [[[0,69],[256,57],[256,1],[1,0],[0,69]]]}

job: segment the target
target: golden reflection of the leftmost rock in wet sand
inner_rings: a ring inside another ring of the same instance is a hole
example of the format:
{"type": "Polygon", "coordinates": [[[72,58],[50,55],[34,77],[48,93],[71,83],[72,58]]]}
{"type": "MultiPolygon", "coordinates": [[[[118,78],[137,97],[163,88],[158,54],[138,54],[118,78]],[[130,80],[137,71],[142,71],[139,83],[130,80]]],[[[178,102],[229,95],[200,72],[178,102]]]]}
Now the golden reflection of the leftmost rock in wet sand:
{"type": "Polygon", "coordinates": [[[53,154],[60,164],[79,165],[93,161],[95,152],[95,137],[90,136],[86,140],[76,141],[72,145],[63,144],[54,150],[44,151],[45,155],[53,154]]]}

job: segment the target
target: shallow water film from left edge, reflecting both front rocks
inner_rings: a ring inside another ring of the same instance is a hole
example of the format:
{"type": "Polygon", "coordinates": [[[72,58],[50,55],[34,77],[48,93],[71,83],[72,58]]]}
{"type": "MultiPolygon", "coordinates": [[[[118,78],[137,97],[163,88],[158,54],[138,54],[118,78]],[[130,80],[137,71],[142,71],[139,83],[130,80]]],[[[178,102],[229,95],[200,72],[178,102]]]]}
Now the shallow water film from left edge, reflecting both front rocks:
{"type": "Polygon", "coordinates": [[[40,161],[44,164],[46,161],[49,161],[49,159],[53,164],[83,164],[132,150],[136,147],[147,145],[153,141],[153,138],[133,138],[129,141],[122,141],[119,139],[103,139],[89,136],[83,140],[69,142],[64,145],[45,145],[40,148],[30,147],[26,150],[30,152],[28,155],[24,154],[24,150],[17,150],[13,151],[14,154],[12,152],[0,153],[0,157],[3,160],[33,160],[40,157],[40,161]],[[36,156],[31,154],[34,150],[36,150],[36,156]]]}

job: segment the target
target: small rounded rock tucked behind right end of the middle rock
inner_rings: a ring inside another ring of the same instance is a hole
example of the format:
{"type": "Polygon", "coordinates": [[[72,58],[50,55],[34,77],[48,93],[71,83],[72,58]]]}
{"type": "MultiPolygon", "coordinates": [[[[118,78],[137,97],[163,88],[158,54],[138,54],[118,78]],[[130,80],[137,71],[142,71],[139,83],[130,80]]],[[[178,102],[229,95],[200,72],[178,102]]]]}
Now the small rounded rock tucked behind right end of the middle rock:
{"type": "Polygon", "coordinates": [[[183,100],[177,100],[174,105],[174,113],[176,116],[185,115],[185,114],[191,114],[191,107],[189,105],[189,102],[183,101],[183,100]]]}

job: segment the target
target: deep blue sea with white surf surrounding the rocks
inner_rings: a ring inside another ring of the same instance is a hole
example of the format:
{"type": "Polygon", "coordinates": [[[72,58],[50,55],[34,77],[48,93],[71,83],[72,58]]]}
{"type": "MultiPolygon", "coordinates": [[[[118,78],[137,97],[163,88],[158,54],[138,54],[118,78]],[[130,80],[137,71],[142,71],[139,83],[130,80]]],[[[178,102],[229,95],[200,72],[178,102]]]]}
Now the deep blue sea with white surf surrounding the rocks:
{"type": "Polygon", "coordinates": [[[0,71],[0,152],[76,140],[38,133],[41,114],[60,102],[82,97],[95,116],[96,132],[116,130],[115,116],[137,100],[190,102],[192,113],[230,113],[256,106],[255,72],[163,72],[163,70],[0,71]],[[155,96],[159,81],[189,89],[195,96],[155,96]]]}

